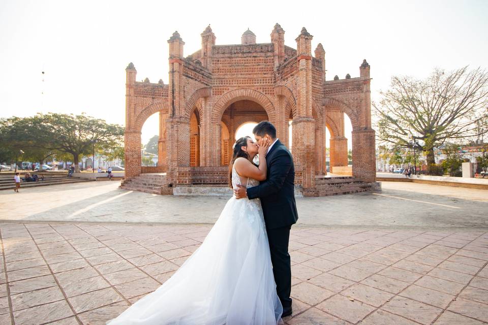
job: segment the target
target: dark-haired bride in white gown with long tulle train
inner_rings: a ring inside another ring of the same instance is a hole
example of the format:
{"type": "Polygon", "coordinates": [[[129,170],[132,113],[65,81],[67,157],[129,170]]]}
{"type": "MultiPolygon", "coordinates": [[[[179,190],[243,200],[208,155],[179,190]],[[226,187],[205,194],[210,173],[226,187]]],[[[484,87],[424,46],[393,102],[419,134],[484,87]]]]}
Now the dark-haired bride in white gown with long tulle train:
{"type": "MultiPolygon", "coordinates": [[[[269,141],[243,137],[229,166],[233,188],[266,178],[269,141]],[[259,167],[252,163],[259,154],[259,167]]],[[[259,199],[229,199],[200,247],[156,291],[108,325],[281,324],[268,238],[259,199]]]]}

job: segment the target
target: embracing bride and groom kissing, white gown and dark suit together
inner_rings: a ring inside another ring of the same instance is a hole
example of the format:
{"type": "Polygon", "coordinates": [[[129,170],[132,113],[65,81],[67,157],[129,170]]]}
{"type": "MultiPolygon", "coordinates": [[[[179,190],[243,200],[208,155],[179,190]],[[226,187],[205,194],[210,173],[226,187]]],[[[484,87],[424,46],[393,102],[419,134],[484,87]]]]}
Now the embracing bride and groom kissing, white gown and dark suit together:
{"type": "Polygon", "coordinates": [[[257,142],[242,137],[234,144],[234,195],[200,247],[108,325],[268,325],[291,315],[288,242],[298,219],[293,158],[270,122],[257,124],[253,134],[257,142]]]}

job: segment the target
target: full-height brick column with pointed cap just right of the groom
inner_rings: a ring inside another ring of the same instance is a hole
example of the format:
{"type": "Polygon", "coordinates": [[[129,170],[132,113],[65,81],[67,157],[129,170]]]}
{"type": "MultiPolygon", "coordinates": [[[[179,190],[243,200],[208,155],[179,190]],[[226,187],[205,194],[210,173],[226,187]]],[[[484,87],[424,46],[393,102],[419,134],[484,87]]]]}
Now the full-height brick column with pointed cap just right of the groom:
{"type": "Polygon", "coordinates": [[[312,35],[302,28],[297,43],[297,117],[293,119],[293,156],[302,169],[302,186],[315,189],[315,120],[312,117],[312,35]]]}

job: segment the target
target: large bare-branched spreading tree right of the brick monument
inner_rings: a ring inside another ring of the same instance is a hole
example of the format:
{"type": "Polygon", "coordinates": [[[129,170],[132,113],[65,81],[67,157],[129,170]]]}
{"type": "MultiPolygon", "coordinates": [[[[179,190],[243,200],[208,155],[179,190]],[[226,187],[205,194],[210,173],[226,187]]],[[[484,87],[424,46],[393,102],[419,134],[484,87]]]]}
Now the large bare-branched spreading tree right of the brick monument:
{"type": "Polygon", "coordinates": [[[436,69],[425,80],[392,77],[391,88],[380,94],[379,104],[373,103],[378,142],[416,146],[428,165],[435,164],[434,147],[484,132],[479,124],[488,115],[488,73],[481,68],[436,69]]]}

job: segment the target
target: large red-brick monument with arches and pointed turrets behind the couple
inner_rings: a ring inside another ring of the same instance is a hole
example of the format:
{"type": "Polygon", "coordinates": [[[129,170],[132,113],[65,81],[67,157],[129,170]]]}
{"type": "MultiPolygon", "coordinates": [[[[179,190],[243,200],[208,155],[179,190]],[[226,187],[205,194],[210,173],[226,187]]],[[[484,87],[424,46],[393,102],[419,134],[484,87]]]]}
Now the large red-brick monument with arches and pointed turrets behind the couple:
{"type": "Polygon", "coordinates": [[[371,128],[370,66],[363,60],[359,77],[335,76],[325,81],[325,51],[312,56],[312,35],[302,28],[296,49],[284,44],[276,24],[271,42],[256,44],[246,30],[238,45],[216,45],[210,26],[202,32],[202,47],[184,57],[185,42],[177,31],[169,43],[169,84],[136,81],[136,69],[126,69],[126,181],[141,173],[162,173],[161,193],[176,186],[225,186],[235,132],[243,123],[267,119],[277,136],[289,143],[295,182],[305,196],[321,194],[326,174],[325,143],[330,141],[330,169],[347,166],[344,114],[351,120],[352,176],[374,183],[375,131],[371,128]],[[141,128],[160,114],[158,167],[141,167],[141,128]],[[325,128],[331,138],[325,139],[325,128]]]}

